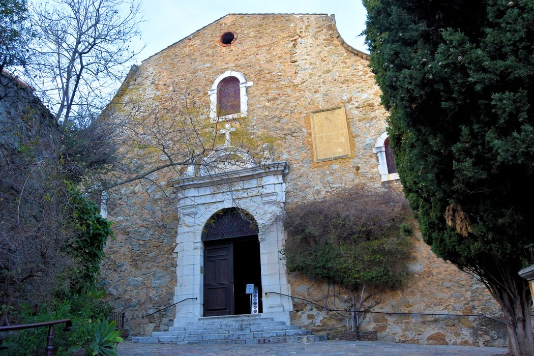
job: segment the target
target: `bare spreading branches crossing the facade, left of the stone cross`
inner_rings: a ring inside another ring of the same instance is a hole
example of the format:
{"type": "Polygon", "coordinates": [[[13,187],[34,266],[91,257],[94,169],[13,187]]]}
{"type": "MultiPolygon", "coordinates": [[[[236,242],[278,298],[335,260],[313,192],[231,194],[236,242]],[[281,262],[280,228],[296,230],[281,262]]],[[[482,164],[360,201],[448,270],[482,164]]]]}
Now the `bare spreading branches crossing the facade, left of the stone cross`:
{"type": "MultiPolygon", "coordinates": [[[[137,78],[138,83],[145,80],[137,78]]],[[[172,96],[147,101],[138,97],[142,90],[136,85],[123,89],[127,93],[119,92],[100,120],[107,132],[115,130],[117,149],[113,168],[89,177],[96,190],[144,180],[151,202],[159,199],[168,205],[176,198],[167,196],[173,190],[171,180],[261,165],[270,155],[273,139],[251,132],[246,118],[232,122],[231,143],[226,142],[228,123],[211,121],[209,108],[193,99],[200,92],[177,89],[172,96]]]]}

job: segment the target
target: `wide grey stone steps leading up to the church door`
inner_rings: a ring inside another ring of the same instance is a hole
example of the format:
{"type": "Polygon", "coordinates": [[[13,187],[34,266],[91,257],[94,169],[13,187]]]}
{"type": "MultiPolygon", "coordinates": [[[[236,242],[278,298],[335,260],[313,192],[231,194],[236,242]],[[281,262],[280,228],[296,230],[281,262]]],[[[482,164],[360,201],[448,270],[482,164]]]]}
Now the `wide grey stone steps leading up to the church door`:
{"type": "Polygon", "coordinates": [[[169,331],[156,331],[152,336],[132,337],[132,341],[138,343],[178,344],[311,343],[325,340],[326,335],[311,335],[310,330],[258,315],[200,318],[185,326],[171,326],[169,331]]]}

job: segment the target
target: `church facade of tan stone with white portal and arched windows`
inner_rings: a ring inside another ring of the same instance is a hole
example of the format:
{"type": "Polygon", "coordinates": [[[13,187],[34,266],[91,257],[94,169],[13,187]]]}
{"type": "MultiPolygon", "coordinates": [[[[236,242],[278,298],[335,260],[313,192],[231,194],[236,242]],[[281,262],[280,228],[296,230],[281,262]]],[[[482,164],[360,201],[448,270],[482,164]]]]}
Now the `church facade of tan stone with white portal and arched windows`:
{"type": "MultiPolygon", "coordinates": [[[[356,183],[399,189],[367,54],[343,41],[333,16],[230,14],[144,60],[120,97],[157,107],[184,92],[206,108],[221,134],[218,149],[202,162],[154,172],[159,190],[144,180],[110,192],[116,240],[101,276],[130,335],[256,312],[319,333],[342,330],[341,320],[288,297],[317,300],[325,286],[287,273],[276,216],[284,204],[356,183]],[[253,154],[234,146],[239,132],[260,146],[266,133],[270,143],[253,154]],[[163,195],[174,203],[161,203],[163,195]],[[257,288],[257,305],[245,284],[257,288]]],[[[182,120],[179,106],[168,108],[167,120],[182,120]]],[[[415,240],[411,280],[387,292],[376,311],[499,315],[482,284],[415,240]]],[[[369,314],[362,328],[383,341],[506,341],[504,328],[478,317],[369,314]]]]}

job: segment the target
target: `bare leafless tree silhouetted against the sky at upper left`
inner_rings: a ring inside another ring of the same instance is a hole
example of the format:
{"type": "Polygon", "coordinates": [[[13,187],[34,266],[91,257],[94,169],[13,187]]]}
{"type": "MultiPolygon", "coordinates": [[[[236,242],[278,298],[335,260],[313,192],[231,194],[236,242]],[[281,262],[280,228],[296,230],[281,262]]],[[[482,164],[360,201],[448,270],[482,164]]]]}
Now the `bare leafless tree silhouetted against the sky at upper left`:
{"type": "Polygon", "coordinates": [[[138,53],[139,5],[133,0],[41,3],[32,13],[36,38],[28,70],[58,122],[99,114],[138,53]],[[38,84],[38,85],[37,85],[38,84]]]}

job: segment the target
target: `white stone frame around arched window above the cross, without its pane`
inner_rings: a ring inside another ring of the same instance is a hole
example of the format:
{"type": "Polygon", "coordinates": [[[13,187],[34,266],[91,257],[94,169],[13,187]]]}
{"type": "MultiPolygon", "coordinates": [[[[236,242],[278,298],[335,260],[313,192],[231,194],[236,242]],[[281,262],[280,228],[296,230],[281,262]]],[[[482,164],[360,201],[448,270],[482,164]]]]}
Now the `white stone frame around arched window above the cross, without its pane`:
{"type": "Polygon", "coordinates": [[[211,84],[211,88],[208,91],[210,101],[210,113],[209,117],[211,122],[227,121],[234,118],[246,117],[248,115],[248,96],[247,88],[252,86],[253,82],[247,82],[245,75],[235,70],[227,70],[223,74],[219,75],[216,80],[211,84]],[[236,77],[239,80],[239,112],[229,115],[220,115],[218,113],[218,85],[227,77],[236,77]]]}

